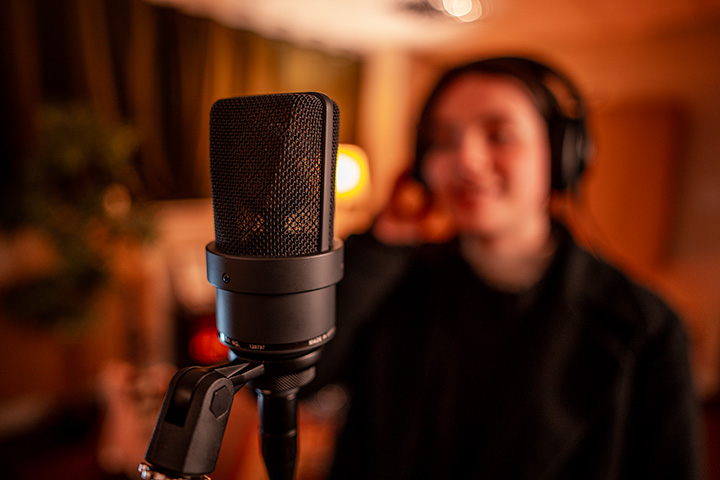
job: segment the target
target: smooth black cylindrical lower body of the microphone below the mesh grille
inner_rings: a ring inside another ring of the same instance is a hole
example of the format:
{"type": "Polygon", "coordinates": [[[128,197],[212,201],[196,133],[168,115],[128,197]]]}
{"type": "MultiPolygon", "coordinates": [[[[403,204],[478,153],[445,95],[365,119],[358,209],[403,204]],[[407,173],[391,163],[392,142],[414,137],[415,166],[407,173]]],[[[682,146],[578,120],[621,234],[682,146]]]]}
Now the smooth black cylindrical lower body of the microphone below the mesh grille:
{"type": "Polygon", "coordinates": [[[303,257],[221,254],[207,246],[208,281],[217,288],[220,340],[255,360],[299,356],[335,333],[335,284],[342,279],[342,243],[303,257]]]}

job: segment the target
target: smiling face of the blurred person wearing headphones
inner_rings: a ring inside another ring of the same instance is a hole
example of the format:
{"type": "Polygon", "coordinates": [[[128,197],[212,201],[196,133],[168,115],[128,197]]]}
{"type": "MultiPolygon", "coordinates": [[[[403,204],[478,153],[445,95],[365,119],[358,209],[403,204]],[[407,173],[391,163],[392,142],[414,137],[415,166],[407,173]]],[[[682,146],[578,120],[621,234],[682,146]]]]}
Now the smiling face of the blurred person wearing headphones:
{"type": "Polygon", "coordinates": [[[461,233],[492,236],[548,218],[547,125],[518,80],[460,77],[430,123],[423,178],[461,233]]]}

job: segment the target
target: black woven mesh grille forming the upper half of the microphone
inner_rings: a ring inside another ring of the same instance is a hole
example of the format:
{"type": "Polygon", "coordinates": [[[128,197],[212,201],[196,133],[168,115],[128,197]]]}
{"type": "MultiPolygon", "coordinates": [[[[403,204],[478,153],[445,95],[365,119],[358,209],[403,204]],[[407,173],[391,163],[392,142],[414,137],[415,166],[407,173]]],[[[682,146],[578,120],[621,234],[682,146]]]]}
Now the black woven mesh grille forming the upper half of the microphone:
{"type": "Polygon", "coordinates": [[[311,93],[218,100],[210,113],[215,244],[239,256],[318,253],[332,245],[339,121],[325,132],[326,107],[311,93]],[[326,152],[326,135],[332,151],[326,152]],[[327,178],[325,162],[332,164],[327,178]],[[331,189],[329,196],[326,189],[331,189]],[[329,199],[323,205],[323,198],[329,199]],[[329,231],[321,215],[330,215],[329,231]]]}

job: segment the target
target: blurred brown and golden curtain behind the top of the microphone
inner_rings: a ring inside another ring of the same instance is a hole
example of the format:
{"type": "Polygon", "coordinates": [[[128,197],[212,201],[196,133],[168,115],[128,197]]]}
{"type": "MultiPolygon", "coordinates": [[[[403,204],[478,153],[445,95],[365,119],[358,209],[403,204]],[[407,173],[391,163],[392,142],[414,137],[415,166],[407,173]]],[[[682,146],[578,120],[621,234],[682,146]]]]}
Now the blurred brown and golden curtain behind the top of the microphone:
{"type": "Polygon", "coordinates": [[[210,194],[209,112],[218,98],[323,91],[340,106],[341,141],[354,140],[357,58],[143,0],[0,3],[3,182],[32,148],[35,112],[48,102],[79,100],[104,121],[131,125],[147,199],[210,194]]]}

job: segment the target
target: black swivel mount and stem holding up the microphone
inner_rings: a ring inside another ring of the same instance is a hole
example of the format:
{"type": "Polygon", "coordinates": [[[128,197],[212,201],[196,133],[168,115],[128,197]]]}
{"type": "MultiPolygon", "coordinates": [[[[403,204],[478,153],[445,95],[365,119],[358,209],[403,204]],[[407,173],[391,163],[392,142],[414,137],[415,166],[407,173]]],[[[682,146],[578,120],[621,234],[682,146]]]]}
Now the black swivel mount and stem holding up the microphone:
{"type": "Polygon", "coordinates": [[[188,367],[170,381],[138,470],[144,480],[209,480],[215,470],[233,397],[250,383],[258,395],[261,449],[270,480],[292,480],[297,454],[297,393],[315,377],[319,349],[299,357],[236,357],[188,367]]]}

